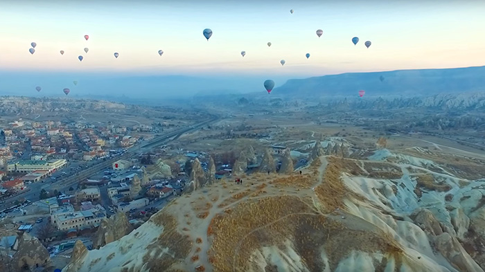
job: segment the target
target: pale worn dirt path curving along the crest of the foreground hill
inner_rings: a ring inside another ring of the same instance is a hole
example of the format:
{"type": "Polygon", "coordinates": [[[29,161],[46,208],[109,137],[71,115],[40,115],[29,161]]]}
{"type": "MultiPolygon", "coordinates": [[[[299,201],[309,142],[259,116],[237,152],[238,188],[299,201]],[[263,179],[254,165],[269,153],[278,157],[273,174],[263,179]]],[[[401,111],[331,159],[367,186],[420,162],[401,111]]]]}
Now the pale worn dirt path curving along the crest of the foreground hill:
{"type": "MultiPolygon", "coordinates": [[[[243,176],[243,184],[236,184],[233,180],[235,177],[233,177],[226,181],[216,181],[214,184],[207,185],[192,194],[177,199],[177,210],[174,210],[173,214],[177,215],[179,232],[188,235],[193,242],[191,253],[186,258],[186,270],[193,271],[197,266],[204,266],[205,271],[213,271],[208,255],[211,248],[211,238],[208,237],[207,233],[212,219],[218,214],[223,214],[224,210],[235,208],[238,204],[245,201],[277,197],[281,196],[281,194],[299,197],[302,201],[307,197],[315,197],[315,192],[312,191],[312,188],[324,182],[323,175],[328,164],[325,157],[321,157],[320,161],[321,165],[318,168],[317,182],[309,188],[297,188],[272,183],[274,179],[284,177],[285,175],[283,174],[267,176],[259,173],[243,176]],[[263,183],[265,184],[265,193],[261,195],[254,194],[261,190],[263,183]]],[[[302,170],[303,174],[311,174],[312,171],[309,169],[302,170]]],[[[295,172],[292,175],[297,175],[297,173],[295,172]]],[[[315,213],[308,213],[309,215],[319,215],[317,208],[312,207],[311,203],[307,203],[307,205],[315,211],[315,213]]],[[[288,216],[290,215],[285,215],[285,217],[288,216]]],[[[285,217],[281,217],[279,220],[285,217]]],[[[276,221],[272,222],[272,224],[276,223],[276,221]]],[[[261,226],[260,228],[264,227],[261,226]]],[[[252,230],[252,233],[258,229],[252,230]]],[[[238,243],[238,246],[235,245],[236,251],[241,242],[238,243]]]]}

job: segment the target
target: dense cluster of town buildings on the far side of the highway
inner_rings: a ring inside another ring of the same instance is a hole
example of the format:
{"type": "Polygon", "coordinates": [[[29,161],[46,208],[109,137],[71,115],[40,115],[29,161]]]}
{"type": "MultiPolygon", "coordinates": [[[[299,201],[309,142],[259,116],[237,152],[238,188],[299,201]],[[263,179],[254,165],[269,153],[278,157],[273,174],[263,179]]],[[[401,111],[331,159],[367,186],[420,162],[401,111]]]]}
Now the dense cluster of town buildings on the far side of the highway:
{"type": "Polygon", "coordinates": [[[90,161],[108,156],[113,147],[130,147],[139,138],[152,138],[151,126],[131,128],[115,125],[95,126],[89,123],[26,122],[17,120],[3,127],[0,137],[0,166],[12,158],[32,160],[77,158],[90,161]],[[136,135],[132,135],[132,132],[136,135]]]}

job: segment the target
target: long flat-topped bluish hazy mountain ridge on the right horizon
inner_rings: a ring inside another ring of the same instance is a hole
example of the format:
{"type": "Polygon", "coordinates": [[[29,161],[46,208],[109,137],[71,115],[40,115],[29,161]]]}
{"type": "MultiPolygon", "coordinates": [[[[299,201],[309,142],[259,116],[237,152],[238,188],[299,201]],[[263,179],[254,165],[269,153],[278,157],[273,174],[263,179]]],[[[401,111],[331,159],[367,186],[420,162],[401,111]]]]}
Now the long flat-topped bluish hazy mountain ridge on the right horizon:
{"type": "Polygon", "coordinates": [[[342,73],[288,80],[272,93],[285,96],[432,96],[439,93],[485,91],[485,66],[452,69],[342,73]],[[380,77],[384,80],[381,82],[380,77]]]}

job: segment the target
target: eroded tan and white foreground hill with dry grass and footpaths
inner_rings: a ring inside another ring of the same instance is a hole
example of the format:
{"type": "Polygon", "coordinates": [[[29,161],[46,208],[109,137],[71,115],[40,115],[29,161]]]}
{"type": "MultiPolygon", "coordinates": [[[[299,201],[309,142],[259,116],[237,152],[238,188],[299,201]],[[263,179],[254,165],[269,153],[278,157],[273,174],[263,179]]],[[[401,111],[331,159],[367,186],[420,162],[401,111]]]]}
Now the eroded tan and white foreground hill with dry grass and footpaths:
{"type": "Polygon", "coordinates": [[[420,152],[320,156],[301,175],[219,181],[63,272],[484,271],[485,181],[472,180],[484,164],[420,152]]]}

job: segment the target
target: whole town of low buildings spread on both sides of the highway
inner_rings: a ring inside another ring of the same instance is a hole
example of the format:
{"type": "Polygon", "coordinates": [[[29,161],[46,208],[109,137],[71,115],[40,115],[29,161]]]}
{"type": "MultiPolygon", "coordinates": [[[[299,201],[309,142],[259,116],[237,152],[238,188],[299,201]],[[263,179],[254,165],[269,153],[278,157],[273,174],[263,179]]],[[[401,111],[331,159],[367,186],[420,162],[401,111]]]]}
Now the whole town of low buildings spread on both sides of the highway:
{"type": "Polygon", "coordinates": [[[15,252],[21,242],[4,230],[37,237],[54,257],[71,255],[76,239],[89,248],[103,246],[96,233],[118,212],[126,216],[127,229],[140,226],[182,193],[191,174],[186,161],[170,167],[159,159],[188,152],[152,144],[161,134],[179,131],[168,123],[9,123],[0,135],[0,249],[15,252]],[[150,152],[151,145],[157,152],[150,152]]]}

